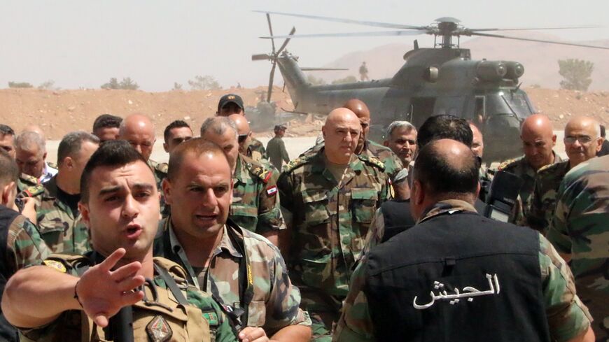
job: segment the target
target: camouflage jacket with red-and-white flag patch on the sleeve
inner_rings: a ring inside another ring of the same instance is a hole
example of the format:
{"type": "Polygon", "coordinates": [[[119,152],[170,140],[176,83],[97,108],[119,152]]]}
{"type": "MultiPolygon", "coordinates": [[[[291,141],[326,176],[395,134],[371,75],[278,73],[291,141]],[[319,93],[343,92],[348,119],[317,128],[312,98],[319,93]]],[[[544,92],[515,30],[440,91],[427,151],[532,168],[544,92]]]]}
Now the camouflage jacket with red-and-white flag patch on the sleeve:
{"type": "Polygon", "coordinates": [[[239,154],[232,176],[232,204],[230,218],[249,231],[265,234],[286,229],[279,206],[279,194],[273,178],[275,169],[239,154]]]}

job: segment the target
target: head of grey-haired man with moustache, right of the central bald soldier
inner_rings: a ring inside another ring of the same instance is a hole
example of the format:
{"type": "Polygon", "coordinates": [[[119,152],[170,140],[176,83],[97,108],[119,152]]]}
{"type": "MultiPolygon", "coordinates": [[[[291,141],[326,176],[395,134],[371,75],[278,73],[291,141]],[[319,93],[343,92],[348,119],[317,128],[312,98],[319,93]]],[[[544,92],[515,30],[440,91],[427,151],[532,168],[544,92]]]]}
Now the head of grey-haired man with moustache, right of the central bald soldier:
{"type": "Polygon", "coordinates": [[[416,128],[410,122],[391,122],[387,127],[383,145],[390,148],[400,158],[402,165],[410,171],[416,155],[416,128]]]}

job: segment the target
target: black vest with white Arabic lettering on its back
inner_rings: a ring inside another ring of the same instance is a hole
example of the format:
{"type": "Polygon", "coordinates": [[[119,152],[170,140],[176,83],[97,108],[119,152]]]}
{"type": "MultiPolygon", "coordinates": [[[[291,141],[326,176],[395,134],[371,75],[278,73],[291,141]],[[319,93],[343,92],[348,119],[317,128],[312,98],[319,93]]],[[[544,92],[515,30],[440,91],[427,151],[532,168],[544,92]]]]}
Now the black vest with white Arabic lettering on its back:
{"type": "Polygon", "coordinates": [[[444,213],[372,249],[377,341],[550,341],[538,233],[444,213]]]}

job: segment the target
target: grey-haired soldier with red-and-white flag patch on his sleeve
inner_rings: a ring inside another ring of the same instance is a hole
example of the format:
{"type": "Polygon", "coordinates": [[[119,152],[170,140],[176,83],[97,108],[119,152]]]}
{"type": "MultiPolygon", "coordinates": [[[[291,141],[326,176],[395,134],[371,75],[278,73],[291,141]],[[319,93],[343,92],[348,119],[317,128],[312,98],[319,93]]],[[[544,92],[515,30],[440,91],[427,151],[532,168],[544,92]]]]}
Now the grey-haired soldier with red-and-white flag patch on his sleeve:
{"type": "MultiPolygon", "coordinates": [[[[227,117],[210,117],[201,125],[201,137],[220,146],[232,169],[230,219],[279,244],[279,230],[286,229],[272,170],[239,153],[237,127],[227,117]]],[[[276,179],[276,178],[275,178],[276,179]]]]}

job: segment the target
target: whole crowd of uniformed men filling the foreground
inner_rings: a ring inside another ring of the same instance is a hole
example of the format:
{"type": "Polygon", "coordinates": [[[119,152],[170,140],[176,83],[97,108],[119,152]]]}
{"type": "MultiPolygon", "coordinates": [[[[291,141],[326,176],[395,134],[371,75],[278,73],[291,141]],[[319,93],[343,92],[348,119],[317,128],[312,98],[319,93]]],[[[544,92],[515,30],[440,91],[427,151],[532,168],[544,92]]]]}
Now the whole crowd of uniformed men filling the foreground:
{"type": "Polygon", "coordinates": [[[288,127],[265,149],[227,94],[199,136],[165,127],[168,163],[141,113],[66,134],[57,164],[0,124],[0,339],[609,341],[599,122],[571,119],[561,159],[531,115],[524,155],[487,168],[479,122],[395,121],[381,145],[371,117],[347,101],[290,159],[288,127]]]}

